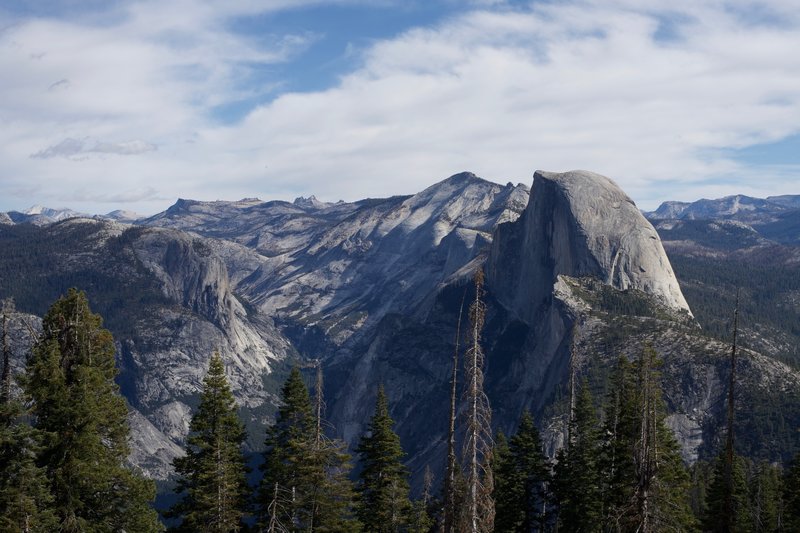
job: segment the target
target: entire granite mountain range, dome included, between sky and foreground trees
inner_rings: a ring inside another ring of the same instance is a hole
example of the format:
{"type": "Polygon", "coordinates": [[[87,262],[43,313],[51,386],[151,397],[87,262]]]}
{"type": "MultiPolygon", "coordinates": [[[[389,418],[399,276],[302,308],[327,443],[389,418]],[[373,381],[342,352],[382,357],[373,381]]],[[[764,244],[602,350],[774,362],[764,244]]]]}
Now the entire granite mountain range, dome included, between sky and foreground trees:
{"type": "MultiPolygon", "coordinates": [[[[792,285],[800,196],[665,203],[647,214],[654,227],[613,181],[590,172],[537,172],[530,190],[461,173],[412,196],[352,203],[179,200],[135,224],[68,216],[0,215],[0,297],[13,296],[19,320],[34,323],[68,287],[87,291],[117,341],[132,459],[157,478],[179,453],[214,350],[252,449],[288,368],[319,359],[341,436],[360,435],[384,384],[413,473],[437,471],[459,308],[478,268],[487,273],[496,427],[512,428],[531,409],[553,451],[570,368],[602,394],[614,359],[651,344],[665,361],[684,457],[713,453],[728,350],[714,335],[724,337],[739,284],[757,305],[772,305],[766,296],[779,302],[787,320],[745,306],[752,350],[741,395],[771,410],[739,424],[771,444],[740,446],[774,460],[800,444],[781,429],[800,423],[800,374],[785,364],[800,362],[791,326],[800,314],[792,285]],[[785,283],[759,292],[758,280],[730,265],[752,266],[765,252],[783,268],[772,279],[785,283]],[[730,274],[710,281],[704,265],[730,274]]],[[[24,328],[16,331],[19,368],[26,341],[24,328]]]]}

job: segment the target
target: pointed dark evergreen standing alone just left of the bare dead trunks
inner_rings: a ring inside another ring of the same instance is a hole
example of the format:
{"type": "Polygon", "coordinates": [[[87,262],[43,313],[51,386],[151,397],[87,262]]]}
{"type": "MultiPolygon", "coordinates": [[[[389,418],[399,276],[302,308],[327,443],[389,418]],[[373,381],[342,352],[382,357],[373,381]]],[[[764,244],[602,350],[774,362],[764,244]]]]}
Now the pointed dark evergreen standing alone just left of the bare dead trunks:
{"type": "Polygon", "coordinates": [[[402,531],[408,521],[408,474],[402,462],[405,454],[393,425],[381,386],[375,414],[357,449],[362,466],[357,486],[358,517],[364,529],[374,533],[402,531]]]}

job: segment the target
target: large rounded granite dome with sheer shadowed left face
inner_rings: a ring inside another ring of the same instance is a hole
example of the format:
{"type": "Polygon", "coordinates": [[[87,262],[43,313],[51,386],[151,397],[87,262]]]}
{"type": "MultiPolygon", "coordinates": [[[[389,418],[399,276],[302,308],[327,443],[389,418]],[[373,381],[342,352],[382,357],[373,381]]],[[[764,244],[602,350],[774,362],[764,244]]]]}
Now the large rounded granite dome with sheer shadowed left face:
{"type": "Polygon", "coordinates": [[[497,299],[528,323],[559,275],[595,277],[689,311],[653,226],[616,183],[592,172],[537,171],[525,212],[498,228],[487,270],[497,299]]]}

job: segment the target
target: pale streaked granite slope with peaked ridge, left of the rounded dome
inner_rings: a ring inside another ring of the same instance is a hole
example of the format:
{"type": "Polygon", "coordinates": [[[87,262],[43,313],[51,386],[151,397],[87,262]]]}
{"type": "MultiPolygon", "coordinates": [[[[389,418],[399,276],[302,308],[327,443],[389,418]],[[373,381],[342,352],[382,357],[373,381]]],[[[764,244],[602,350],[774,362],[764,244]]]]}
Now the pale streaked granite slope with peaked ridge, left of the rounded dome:
{"type": "Polygon", "coordinates": [[[475,258],[492,231],[516,220],[523,185],[455,174],[413,196],[323,203],[179,200],[146,224],[242,244],[260,255],[226,259],[237,291],[295,331],[343,345],[387,313],[408,312],[475,258]]]}

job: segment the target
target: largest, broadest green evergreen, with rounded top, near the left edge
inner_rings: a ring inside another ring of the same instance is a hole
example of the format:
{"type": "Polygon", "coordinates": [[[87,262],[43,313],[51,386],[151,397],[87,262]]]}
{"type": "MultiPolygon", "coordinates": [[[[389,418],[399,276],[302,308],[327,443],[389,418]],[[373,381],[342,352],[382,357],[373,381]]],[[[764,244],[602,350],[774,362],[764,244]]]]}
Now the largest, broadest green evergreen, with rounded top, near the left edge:
{"type": "Polygon", "coordinates": [[[128,409],[114,382],[111,334],[75,289],[50,307],[42,328],[24,386],[47,435],[40,463],[59,530],[160,531],[154,483],[125,466],[128,409]]]}

